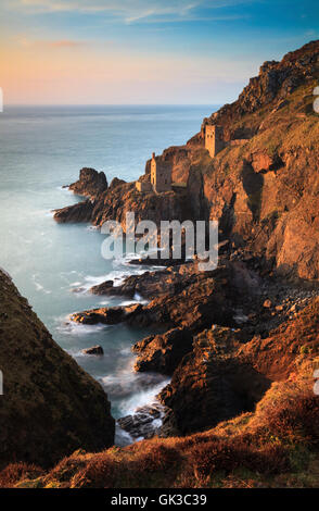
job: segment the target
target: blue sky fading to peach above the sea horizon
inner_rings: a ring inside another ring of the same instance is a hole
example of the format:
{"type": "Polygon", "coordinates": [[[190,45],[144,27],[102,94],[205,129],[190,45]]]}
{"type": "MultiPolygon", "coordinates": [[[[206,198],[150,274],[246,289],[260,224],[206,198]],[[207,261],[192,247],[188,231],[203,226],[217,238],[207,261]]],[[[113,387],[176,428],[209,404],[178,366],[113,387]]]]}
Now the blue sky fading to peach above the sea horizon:
{"type": "Polygon", "coordinates": [[[222,104],[319,39],[318,0],[0,0],[4,104],[222,104]]]}

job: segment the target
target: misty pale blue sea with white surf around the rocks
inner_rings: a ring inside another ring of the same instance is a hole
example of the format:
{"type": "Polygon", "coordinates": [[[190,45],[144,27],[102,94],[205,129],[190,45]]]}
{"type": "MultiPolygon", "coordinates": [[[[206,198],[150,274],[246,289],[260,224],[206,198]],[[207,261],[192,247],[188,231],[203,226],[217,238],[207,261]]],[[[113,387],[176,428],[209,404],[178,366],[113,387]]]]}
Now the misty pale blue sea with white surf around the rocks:
{"type": "MultiPolygon", "coordinates": [[[[62,189],[82,166],[136,179],[152,151],[161,153],[200,130],[214,105],[11,107],[0,114],[0,266],[77,362],[98,378],[115,417],[149,402],[167,381],[132,372],[131,345],[150,331],[124,325],[71,325],[72,312],[124,303],[74,292],[107,278],[141,272],[101,257],[101,234],[88,225],[58,225],[50,212],[75,203],[62,189]],[[104,357],[82,356],[100,344],[104,357]]],[[[119,281],[118,281],[119,282],[119,281]]],[[[139,300],[139,297],[136,297],[139,300]]],[[[23,349],[23,346],[22,346],[23,349]]]]}

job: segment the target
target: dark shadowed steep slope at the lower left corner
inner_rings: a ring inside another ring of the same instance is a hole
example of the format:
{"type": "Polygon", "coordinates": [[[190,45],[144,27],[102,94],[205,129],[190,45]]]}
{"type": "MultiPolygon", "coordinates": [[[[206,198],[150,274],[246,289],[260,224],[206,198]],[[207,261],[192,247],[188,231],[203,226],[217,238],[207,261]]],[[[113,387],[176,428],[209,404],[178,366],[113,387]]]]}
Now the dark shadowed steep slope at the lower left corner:
{"type": "Polygon", "coordinates": [[[102,387],[52,339],[11,278],[0,271],[0,464],[52,465],[78,448],[114,441],[102,387]]]}

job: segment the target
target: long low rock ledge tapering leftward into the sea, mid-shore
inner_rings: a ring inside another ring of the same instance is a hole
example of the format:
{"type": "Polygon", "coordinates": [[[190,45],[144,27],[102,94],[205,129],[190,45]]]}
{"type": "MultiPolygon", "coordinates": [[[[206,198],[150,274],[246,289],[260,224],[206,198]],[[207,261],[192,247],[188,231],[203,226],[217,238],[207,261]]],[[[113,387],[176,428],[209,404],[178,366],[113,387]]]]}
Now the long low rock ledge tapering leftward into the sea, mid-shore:
{"type": "Polygon", "coordinates": [[[196,332],[212,323],[232,324],[238,289],[232,285],[230,269],[220,266],[212,272],[188,272],[188,265],[186,267],[183,278],[178,279],[180,287],[171,295],[160,296],[146,306],[92,309],[73,314],[72,320],[82,324],[126,321],[140,326],[181,326],[196,332]]]}

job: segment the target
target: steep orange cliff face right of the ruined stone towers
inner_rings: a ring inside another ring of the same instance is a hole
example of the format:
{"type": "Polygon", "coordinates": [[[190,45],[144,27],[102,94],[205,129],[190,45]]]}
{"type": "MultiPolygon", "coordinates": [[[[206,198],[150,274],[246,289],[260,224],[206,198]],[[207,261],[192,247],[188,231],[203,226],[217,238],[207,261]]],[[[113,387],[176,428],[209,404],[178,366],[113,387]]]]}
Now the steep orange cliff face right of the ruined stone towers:
{"type": "Polygon", "coordinates": [[[199,190],[237,247],[309,279],[319,277],[318,79],[319,41],[265,63],[238,101],[205,120],[222,125],[226,139],[247,140],[212,161],[199,190]]]}

